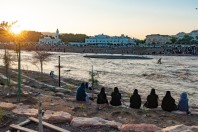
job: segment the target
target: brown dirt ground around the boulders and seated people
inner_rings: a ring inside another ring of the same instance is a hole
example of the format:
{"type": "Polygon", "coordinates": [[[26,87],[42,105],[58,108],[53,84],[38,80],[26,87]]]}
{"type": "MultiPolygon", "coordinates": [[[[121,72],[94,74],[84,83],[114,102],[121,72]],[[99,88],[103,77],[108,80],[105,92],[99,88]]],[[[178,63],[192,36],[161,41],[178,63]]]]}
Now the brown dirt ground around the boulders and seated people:
{"type": "MultiPolygon", "coordinates": [[[[3,74],[3,68],[0,67],[0,73],[3,74]]],[[[15,70],[13,70],[15,71],[15,70]]],[[[53,86],[58,86],[58,80],[51,78],[48,74],[44,74],[41,78],[39,72],[33,71],[23,71],[23,75],[34,78],[40,82],[50,84],[53,86]]],[[[17,74],[10,71],[10,76],[13,81],[17,81],[17,74]]],[[[132,109],[128,108],[127,104],[129,103],[129,95],[121,91],[123,106],[113,107],[108,106],[103,109],[98,109],[96,104],[97,93],[100,91],[102,86],[97,86],[94,90],[94,101],[89,102],[77,102],[75,100],[75,91],[76,88],[80,85],[82,80],[73,80],[69,78],[62,78],[63,82],[61,83],[62,88],[69,89],[70,93],[65,93],[64,97],[56,96],[56,93],[53,90],[43,88],[37,84],[37,82],[22,77],[22,84],[30,86],[31,88],[25,87],[22,85],[23,93],[26,93],[21,96],[21,102],[23,104],[30,105],[32,108],[38,107],[38,94],[42,94],[43,101],[43,110],[54,110],[54,111],[65,111],[70,113],[73,116],[80,117],[101,117],[107,120],[114,120],[120,123],[147,123],[155,124],[158,127],[164,128],[167,126],[185,124],[185,125],[198,125],[198,115],[186,115],[186,114],[175,114],[170,112],[162,111],[161,108],[158,109],[132,109]]],[[[12,82],[10,86],[4,86],[3,83],[0,85],[0,100],[2,102],[11,102],[17,103],[17,84],[12,82]]],[[[110,94],[112,88],[106,88],[106,94],[108,95],[108,100],[110,100],[110,94]]],[[[89,91],[88,91],[89,92],[89,91]]],[[[11,111],[1,110],[6,112],[3,118],[0,118],[0,131],[8,130],[10,124],[17,124],[24,121],[27,117],[18,116],[13,114],[11,111]]],[[[0,113],[1,113],[0,111],[0,113]]],[[[27,127],[33,127],[36,124],[32,124],[27,127]]],[[[89,128],[76,128],[72,127],[69,124],[57,124],[62,128],[66,128],[70,131],[117,131],[113,128],[107,127],[89,127],[89,128]]],[[[50,131],[47,130],[46,131],[50,131]]]]}

